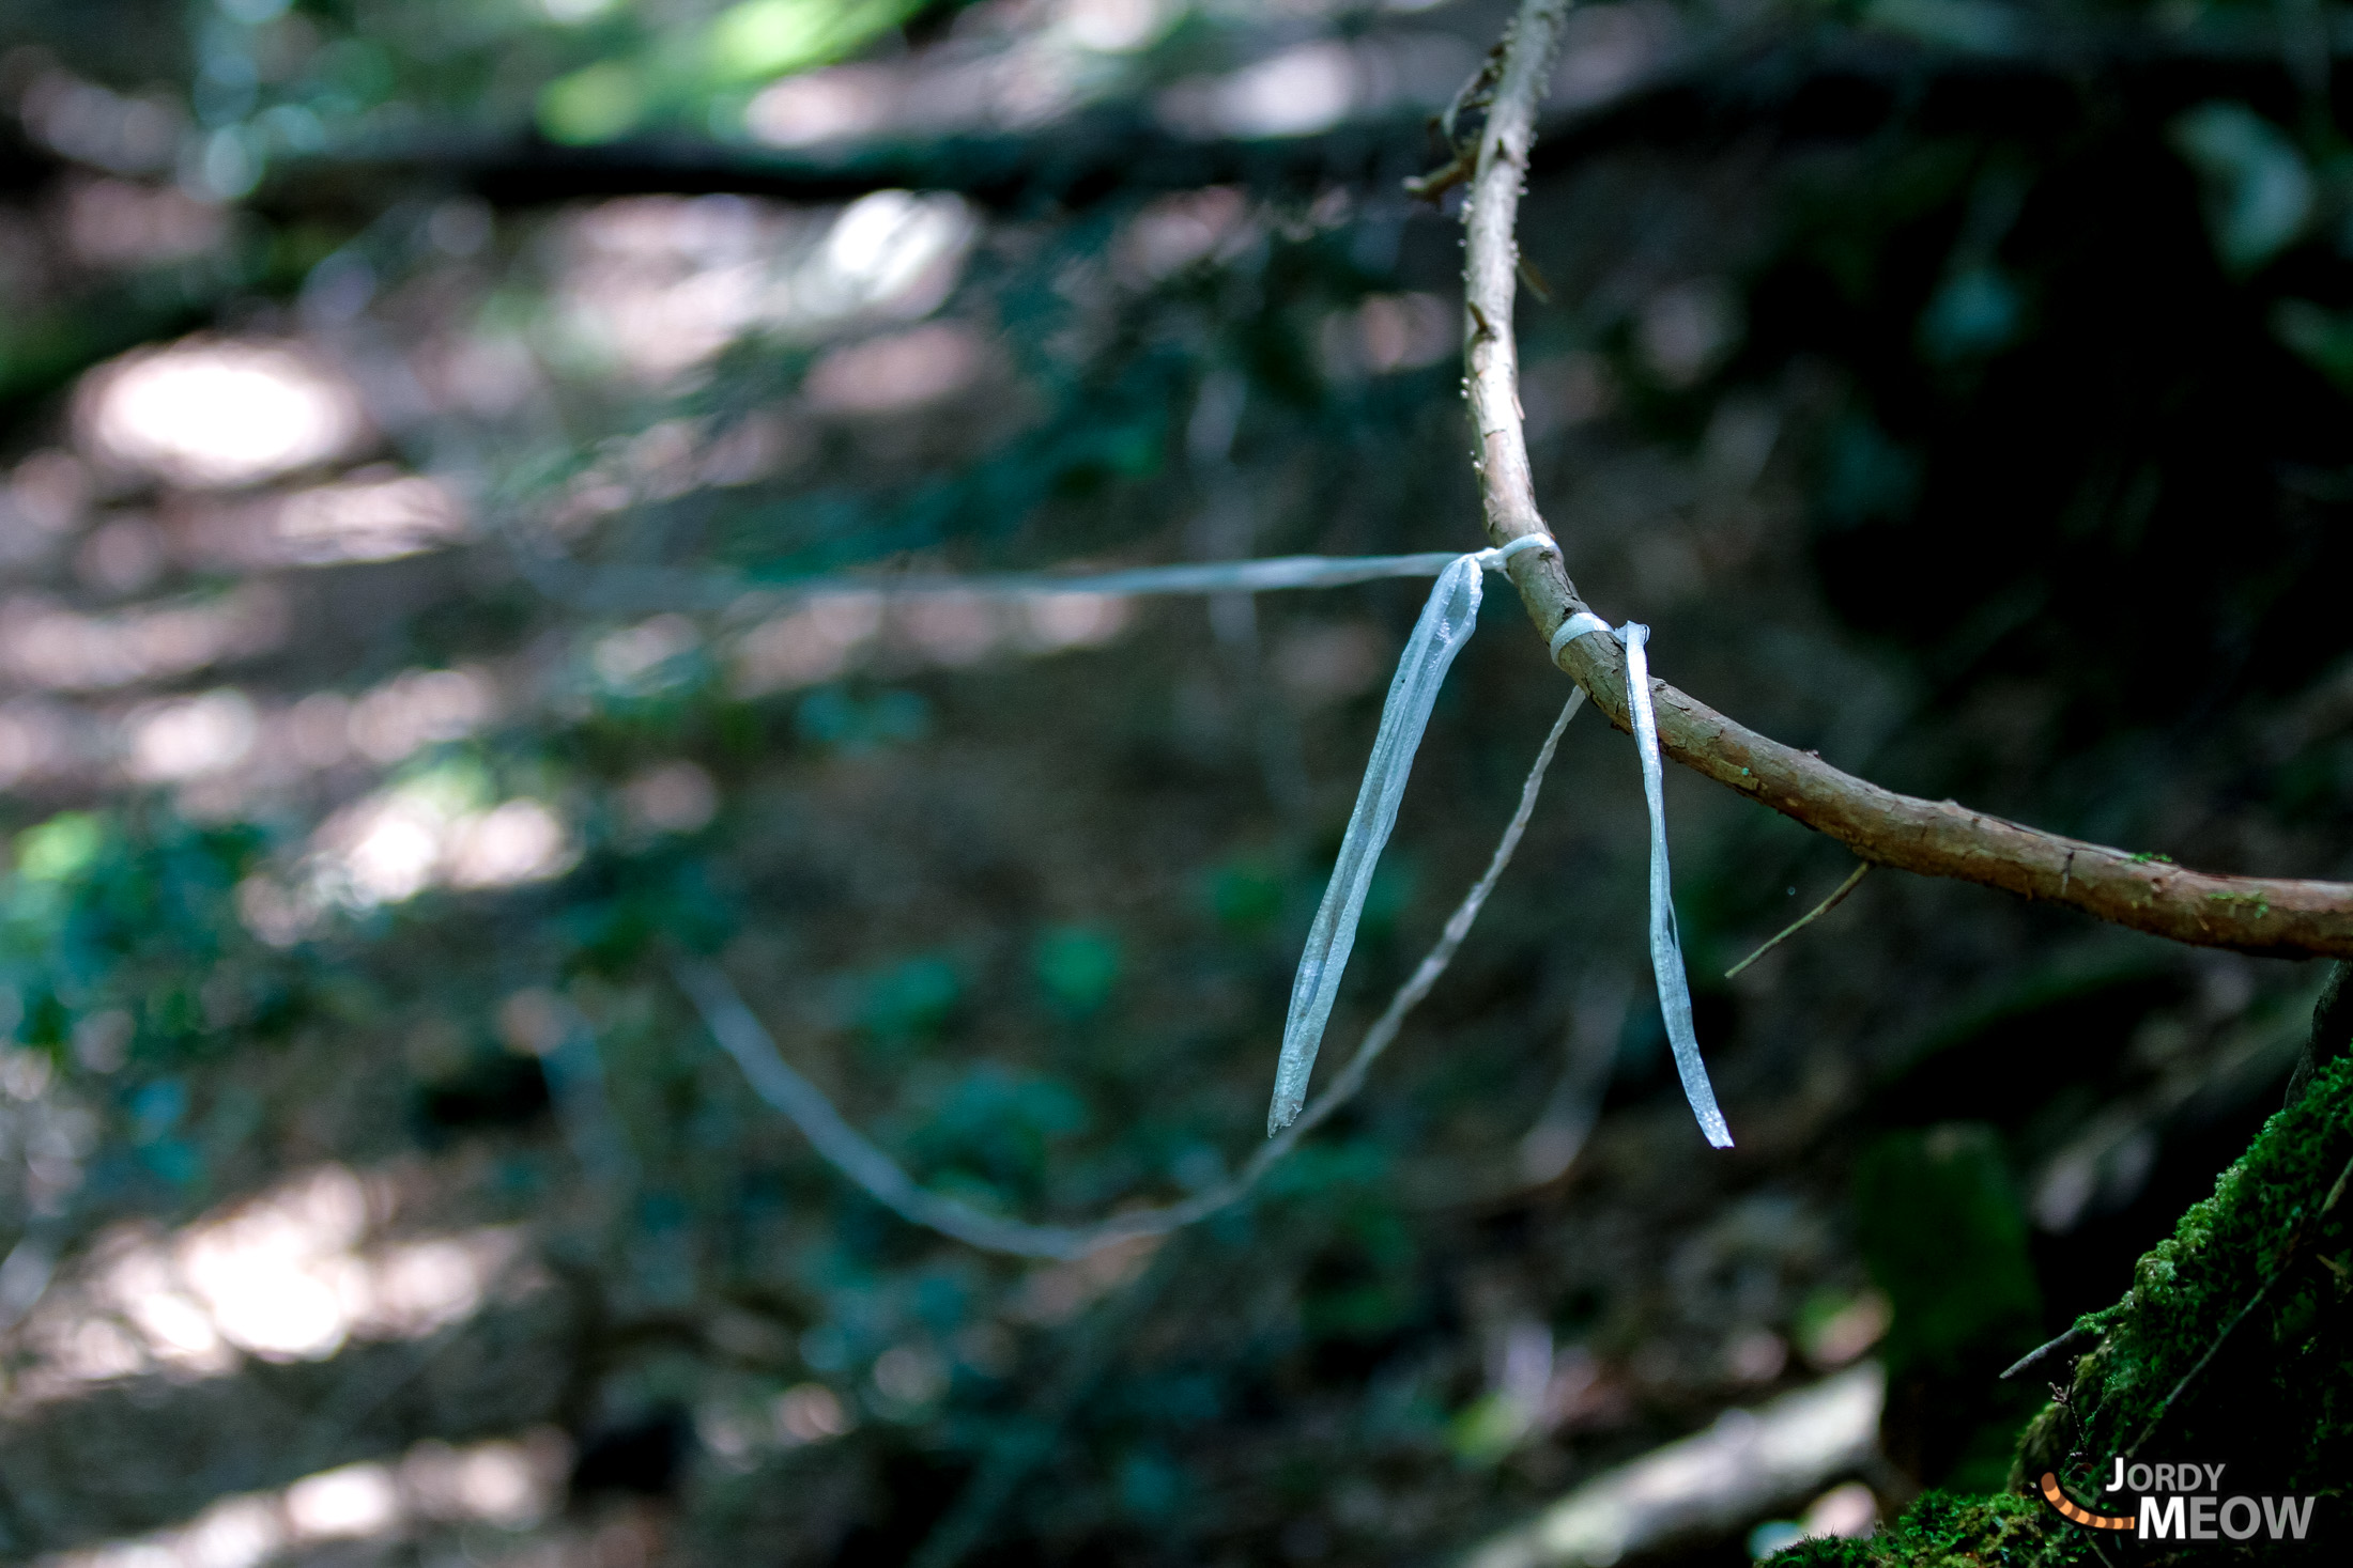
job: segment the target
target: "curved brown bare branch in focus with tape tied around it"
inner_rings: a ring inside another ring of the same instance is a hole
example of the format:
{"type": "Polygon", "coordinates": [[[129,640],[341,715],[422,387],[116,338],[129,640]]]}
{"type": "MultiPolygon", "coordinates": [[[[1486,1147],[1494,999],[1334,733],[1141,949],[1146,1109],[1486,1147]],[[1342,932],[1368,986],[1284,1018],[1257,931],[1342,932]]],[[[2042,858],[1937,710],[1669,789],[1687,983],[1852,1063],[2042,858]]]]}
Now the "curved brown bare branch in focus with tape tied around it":
{"type": "MultiPolygon", "coordinates": [[[[1537,510],[1520,414],[1513,341],[1520,261],[1515,226],[1537,110],[1567,9],[1569,0],[1522,0],[1504,42],[1464,202],[1466,395],[1487,538],[1497,545],[1546,527],[1537,510]]],[[[1508,564],[1508,574],[1546,639],[1586,609],[1555,552],[1525,550],[1508,564]]],[[[1614,637],[1577,637],[1560,649],[1558,663],[1612,724],[1631,729],[1626,651],[1614,637]]],[[[1882,790],[1812,752],[1760,736],[1661,679],[1652,679],[1652,701],[1659,745],[1668,757],[1831,835],[1873,865],[2073,905],[2118,926],[2200,947],[2353,957],[2353,884],[2184,870],[2162,858],[2009,823],[1951,799],[1882,790]]]]}

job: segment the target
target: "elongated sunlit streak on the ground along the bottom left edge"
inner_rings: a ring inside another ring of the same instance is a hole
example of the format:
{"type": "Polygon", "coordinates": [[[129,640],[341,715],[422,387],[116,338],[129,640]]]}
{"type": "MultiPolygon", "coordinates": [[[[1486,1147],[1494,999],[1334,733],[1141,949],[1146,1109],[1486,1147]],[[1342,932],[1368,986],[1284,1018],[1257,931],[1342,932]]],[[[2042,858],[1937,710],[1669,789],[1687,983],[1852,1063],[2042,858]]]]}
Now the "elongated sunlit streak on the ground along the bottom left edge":
{"type": "Polygon", "coordinates": [[[452,1526],[525,1530],[555,1512],[572,1446],[560,1432],[452,1446],[221,1497],[188,1523],[35,1559],[38,1568],[261,1568],[332,1542],[393,1542],[452,1526]]]}

